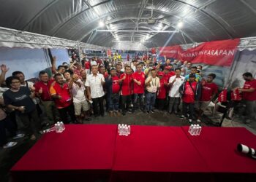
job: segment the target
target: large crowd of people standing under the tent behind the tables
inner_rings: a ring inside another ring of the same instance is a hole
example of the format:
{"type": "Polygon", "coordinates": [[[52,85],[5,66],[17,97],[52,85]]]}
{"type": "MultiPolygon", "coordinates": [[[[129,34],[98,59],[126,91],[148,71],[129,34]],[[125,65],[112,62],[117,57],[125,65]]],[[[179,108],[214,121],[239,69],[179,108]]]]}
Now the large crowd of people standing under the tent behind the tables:
{"type": "MultiPolygon", "coordinates": [[[[28,135],[35,140],[44,124],[83,123],[92,116],[104,117],[105,112],[112,117],[126,116],[127,112],[151,114],[157,109],[189,123],[201,122],[203,111],[218,95],[215,74],[203,75],[203,66],[166,58],[127,62],[84,58],[61,66],[56,66],[53,58],[52,75],[40,71],[35,83],[25,81],[21,71],[5,79],[7,71],[9,68],[1,65],[0,146],[4,148],[16,144],[7,142],[6,129],[13,138],[28,135]],[[47,123],[39,119],[41,110],[47,123]],[[23,123],[22,133],[17,119],[23,123]]],[[[246,82],[238,90],[249,111],[247,121],[255,121],[256,80],[250,73],[243,76],[246,82]]]]}

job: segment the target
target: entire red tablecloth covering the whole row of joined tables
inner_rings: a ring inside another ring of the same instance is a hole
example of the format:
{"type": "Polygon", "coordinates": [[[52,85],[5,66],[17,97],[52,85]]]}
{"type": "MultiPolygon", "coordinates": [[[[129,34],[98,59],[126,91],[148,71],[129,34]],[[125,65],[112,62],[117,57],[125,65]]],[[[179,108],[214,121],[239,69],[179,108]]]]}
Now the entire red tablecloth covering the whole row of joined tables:
{"type": "Polygon", "coordinates": [[[236,151],[256,145],[244,128],[191,136],[188,127],[132,126],[125,137],[116,125],[66,127],[43,135],[12,167],[14,181],[255,181],[256,161],[236,151]]]}

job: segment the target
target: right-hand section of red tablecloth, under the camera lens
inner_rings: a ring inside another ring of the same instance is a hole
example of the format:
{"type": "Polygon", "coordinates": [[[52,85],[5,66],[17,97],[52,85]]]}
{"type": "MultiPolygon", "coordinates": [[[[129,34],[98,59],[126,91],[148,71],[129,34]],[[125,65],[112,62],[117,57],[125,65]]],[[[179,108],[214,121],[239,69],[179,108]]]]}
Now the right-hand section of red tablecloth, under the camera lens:
{"type": "MultiPolygon", "coordinates": [[[[238,143],[256,148],[256,136],[244,127],[203,127],[192,136],[182,127],[195,149],[214,173],[256,173],[256,160],[236,150],[238,143]]],[[[255,179],[256,181],[256,179],[255,179]]]]}

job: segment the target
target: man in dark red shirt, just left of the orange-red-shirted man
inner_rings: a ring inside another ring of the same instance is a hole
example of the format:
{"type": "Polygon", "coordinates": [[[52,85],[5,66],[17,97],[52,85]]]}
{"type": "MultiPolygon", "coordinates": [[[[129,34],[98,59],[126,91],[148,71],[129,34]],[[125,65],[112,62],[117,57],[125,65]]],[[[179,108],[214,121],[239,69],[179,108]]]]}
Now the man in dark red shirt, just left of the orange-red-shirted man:
{"type": "Polygon", "coordinates": [[[56,122],[57,112],[53,98],[51,98],[50,95],[50,85],[54,82],[54,79],[49,79],[49,76],[45,71],[40,71],[39,80],[39,82],[34,84],[36,95],[41,99],[42,106],[45,108],[45,114],[49,121],[48,124],[54,124],[56,122]]]}

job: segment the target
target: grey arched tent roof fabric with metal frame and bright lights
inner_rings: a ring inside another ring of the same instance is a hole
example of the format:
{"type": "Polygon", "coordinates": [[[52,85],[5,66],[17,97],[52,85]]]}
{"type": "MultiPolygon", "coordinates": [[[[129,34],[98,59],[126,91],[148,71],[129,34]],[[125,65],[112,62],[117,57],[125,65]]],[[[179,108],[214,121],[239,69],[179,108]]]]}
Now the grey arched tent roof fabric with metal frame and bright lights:
{"type": "Polygon", "coordinates": [[[254,0],[12,0],[1,1],[0,26],[102,47],[162,47],[256,36],[255,15],[254,0]]]}

